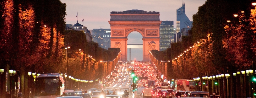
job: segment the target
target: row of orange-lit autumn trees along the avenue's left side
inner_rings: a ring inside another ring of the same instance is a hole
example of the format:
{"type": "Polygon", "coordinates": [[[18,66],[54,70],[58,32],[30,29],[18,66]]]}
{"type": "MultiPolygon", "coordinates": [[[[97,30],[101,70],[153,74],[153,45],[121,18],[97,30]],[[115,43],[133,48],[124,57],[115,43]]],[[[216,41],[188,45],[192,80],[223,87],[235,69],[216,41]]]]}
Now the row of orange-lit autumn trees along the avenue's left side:
{"type": "Polygon", "coordinates": [[[65,73],[68,67],[67,74],[81,80],[110,73],[101,73],[110,65],[100,61],[115,59],[109,62],[115,65],[120,49],[102,49],[97,43],[87,42],[83,32],[65,30],[65,10],[66,4],[59,0],[0,2],[0,68],[9,65],[8,69],[18,74],[23,69],[26,75],[30,71],[65,73]],[[71,48],[64,49],[68,44],[71,48]]]}

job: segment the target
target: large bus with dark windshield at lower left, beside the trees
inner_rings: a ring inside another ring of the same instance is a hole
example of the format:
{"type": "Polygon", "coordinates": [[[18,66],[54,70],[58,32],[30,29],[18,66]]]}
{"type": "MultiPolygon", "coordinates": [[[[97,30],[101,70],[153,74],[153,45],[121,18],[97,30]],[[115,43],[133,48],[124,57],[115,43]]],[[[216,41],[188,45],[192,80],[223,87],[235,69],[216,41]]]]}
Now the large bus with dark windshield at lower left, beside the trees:
{"type": "Polygon", "coordinates": [[[63,91],[64,80],[58,73],[40,74],[35,78],[35,98],[56,98],[63,91]]]}

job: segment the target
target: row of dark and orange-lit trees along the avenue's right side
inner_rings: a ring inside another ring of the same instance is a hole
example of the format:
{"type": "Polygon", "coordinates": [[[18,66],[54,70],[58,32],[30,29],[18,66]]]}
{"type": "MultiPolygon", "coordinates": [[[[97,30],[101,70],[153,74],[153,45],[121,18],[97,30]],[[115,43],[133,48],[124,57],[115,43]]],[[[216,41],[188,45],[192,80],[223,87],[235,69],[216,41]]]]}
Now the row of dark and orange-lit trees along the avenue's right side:
{"type": "Polygon", "coordinates": [[[194,78],[255,69],[256,14],[252,2],[207,0],[193,15],[190,35],[182,36],[181,42],[172,43],[166,51],[152,50],[153,57],[158,62],[166,61],[167,68],[170,68],[167,72],[169,78],[194,78]],[[233,16],[236,12],[239,17],[233,16]]]}

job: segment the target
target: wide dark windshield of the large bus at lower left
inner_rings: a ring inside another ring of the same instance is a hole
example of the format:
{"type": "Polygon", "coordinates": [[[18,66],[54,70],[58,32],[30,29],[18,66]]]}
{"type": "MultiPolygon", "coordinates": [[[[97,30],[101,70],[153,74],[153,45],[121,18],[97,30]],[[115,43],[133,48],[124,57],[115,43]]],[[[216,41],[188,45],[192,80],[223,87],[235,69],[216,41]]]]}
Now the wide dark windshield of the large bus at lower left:
{"type": "Polygon", "coordinates": [[[35,84],[36,96],[60,95],[62,82],[59,77],[37,77],[35,84]]]}

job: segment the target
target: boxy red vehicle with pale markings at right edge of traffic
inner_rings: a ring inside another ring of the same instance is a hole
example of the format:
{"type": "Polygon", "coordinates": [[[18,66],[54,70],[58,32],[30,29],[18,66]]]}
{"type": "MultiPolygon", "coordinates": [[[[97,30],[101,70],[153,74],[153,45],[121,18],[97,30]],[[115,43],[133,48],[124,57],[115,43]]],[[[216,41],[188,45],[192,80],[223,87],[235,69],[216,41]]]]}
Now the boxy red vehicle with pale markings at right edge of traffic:
{"type": "Polygon", "coordinates": [[[196,82],[193,79],[176,79],[174,90],[195,91],[196,82]]]}

